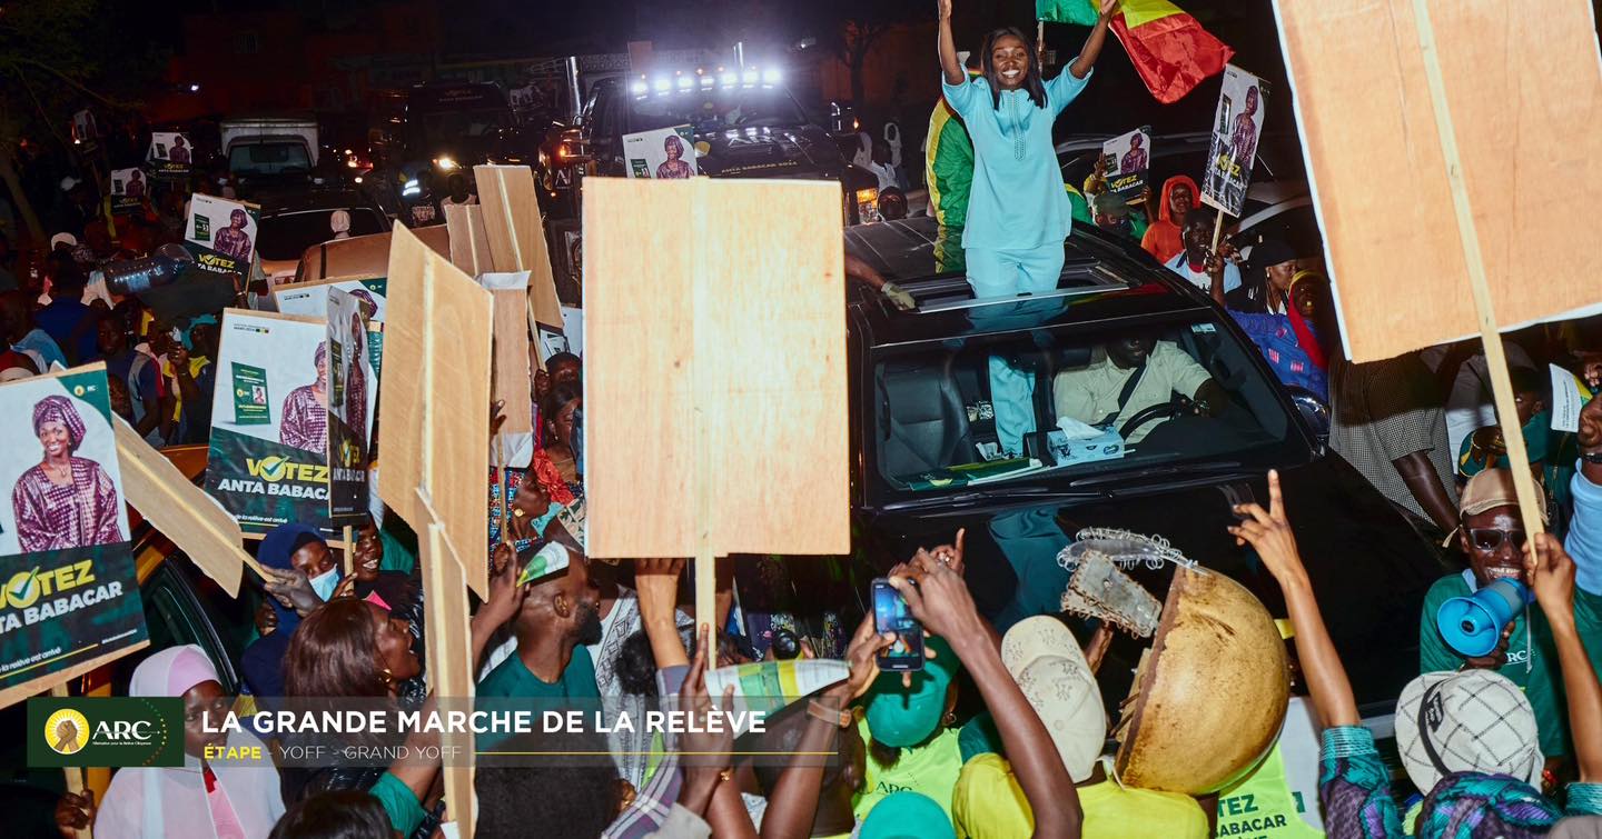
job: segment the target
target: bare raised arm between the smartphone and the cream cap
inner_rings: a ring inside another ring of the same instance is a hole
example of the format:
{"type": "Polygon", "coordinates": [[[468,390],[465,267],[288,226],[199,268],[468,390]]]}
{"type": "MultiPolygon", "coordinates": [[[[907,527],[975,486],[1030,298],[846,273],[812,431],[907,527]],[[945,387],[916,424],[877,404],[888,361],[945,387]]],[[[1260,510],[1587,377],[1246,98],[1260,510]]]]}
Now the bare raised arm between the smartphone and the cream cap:
{"type": "Polygon", "coordinates": [[[891,584],[924,628],[950,642],[972,674],[1035,813],[1035,836],[1078,837],[1085,818],[1080,794],[1051,733],[1001,663],[995,634],[979,616],[968,584],[950,565],[921,549],[910,564],[891,572],[891,584]]]}

